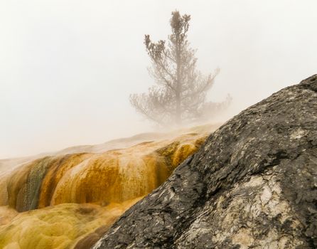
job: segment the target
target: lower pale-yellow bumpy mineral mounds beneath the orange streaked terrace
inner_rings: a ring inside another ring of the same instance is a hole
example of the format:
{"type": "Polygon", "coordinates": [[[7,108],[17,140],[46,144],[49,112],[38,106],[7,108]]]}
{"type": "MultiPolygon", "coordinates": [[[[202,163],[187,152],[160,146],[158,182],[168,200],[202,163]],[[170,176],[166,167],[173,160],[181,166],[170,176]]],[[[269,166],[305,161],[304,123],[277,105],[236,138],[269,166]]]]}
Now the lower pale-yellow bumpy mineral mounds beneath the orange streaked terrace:
{"type": "MultiPolygon", "coordinates": [[[[139,198],[125,203],[98,206],[90,203],[63,203],[15,213],[11,223],[0,226],[0,248],[73,248],[98,228],[107,229],[139,198]]],[[[0,208],[0,215],[10,213],[0,208]]],[[[12,211],[11,211],[12,212],[12,211]]]]}

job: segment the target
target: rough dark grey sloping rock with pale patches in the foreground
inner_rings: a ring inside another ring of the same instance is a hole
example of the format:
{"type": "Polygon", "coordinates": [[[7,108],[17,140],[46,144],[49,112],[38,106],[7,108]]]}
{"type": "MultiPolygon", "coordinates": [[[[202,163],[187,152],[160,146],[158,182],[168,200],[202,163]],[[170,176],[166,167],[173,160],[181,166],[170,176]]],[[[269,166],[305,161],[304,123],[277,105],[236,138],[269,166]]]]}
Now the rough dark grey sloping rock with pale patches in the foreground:
{"type": "Polygon", "coordinates": [[[222,125],[94,248],[317,248],[317,75],[222,125]]]}

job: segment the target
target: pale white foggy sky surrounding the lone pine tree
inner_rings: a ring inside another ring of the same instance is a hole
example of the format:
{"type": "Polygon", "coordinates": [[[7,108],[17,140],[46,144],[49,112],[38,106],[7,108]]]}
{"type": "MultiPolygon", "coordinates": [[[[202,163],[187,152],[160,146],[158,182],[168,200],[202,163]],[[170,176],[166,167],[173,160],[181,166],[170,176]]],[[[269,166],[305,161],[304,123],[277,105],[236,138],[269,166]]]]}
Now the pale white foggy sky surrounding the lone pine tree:
{"type": "Polygon", "coordinates": [[[232,115],[317,73],[314,0],[1,0],[0,159],[151,130],[129,94],[154,83],[144,34],[166,39],[175,9],[232,115]]]}

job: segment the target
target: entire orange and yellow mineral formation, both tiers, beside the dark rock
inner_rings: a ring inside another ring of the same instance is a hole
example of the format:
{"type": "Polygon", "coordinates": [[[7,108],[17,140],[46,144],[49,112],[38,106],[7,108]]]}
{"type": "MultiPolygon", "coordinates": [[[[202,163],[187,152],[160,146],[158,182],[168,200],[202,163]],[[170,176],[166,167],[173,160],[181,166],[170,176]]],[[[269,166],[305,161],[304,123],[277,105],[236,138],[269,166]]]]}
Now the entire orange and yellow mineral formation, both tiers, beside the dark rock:
{"type": "Polygon", "coordinates": [[[166,181],[206,135],[2,168],[0,248],[90,248],[127,208],[166,181]]]}

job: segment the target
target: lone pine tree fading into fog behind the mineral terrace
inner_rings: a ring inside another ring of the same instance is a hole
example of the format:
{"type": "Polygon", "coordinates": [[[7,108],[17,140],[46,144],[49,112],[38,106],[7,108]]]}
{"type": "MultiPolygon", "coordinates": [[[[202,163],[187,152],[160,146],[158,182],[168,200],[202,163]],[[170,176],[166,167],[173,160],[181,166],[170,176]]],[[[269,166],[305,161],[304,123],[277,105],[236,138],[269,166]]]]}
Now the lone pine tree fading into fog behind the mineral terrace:
{"type": "Polygon", "coordinates": [[[221,103],[206,102],[219,69],[209,75],[196,69],[195,50],[187,38],[189,21],[189,15],[173,11],[167,43],[154,43],[149,35],[144,38],[152,62],[149,73],[156,85],[148,93],[130,95],[130,102],[138,112],[159,124],[193,122],[224,109],[230,102],[230,97],[221,103]]]}

